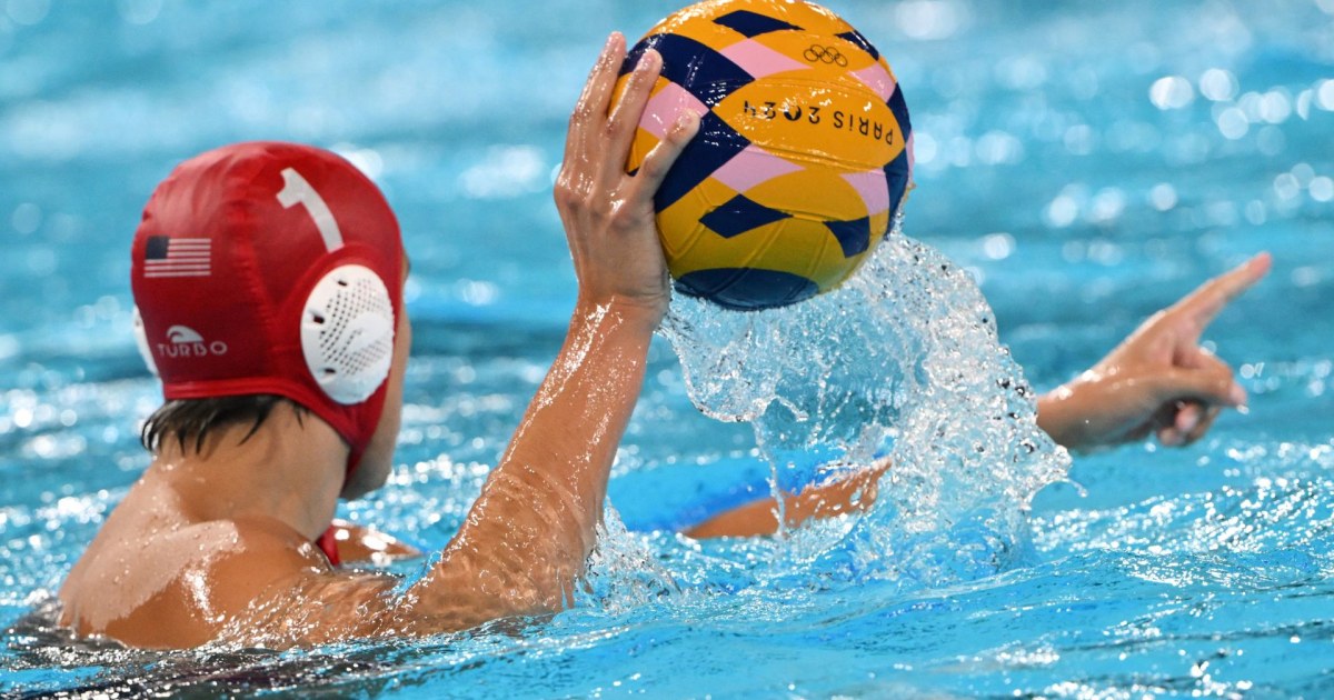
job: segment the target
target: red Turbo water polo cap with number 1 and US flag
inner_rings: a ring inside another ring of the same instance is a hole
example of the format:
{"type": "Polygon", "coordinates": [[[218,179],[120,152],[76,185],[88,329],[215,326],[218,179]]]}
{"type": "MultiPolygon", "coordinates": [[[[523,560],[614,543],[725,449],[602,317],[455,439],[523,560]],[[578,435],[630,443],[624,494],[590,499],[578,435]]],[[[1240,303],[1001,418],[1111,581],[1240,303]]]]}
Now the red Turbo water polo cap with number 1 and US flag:
{"type": "Polygon", "coordinates": [[[403,296],[399,225],[371,180],[305,145],[209,151],[157,185],[131,256],[140,351],[167,399],[284,396],[356,465],[403,296]]]}

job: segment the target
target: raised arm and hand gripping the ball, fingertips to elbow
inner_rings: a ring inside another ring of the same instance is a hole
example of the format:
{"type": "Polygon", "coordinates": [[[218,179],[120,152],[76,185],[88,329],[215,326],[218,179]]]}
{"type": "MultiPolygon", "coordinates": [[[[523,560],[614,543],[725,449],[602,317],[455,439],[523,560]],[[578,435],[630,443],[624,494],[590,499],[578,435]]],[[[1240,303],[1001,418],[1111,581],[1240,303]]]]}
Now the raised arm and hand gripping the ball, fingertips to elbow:
{"type": "Polygon", "coordinates": [[[636,175],[631,140],[662,68],[643,55],[608,115],[624,39],[612,35],[570,121],[556,207],[579,296],[566,343],[404,623],[459,628],[568,604],[602,520],[607,476],[670,300],[652,196],[696,129],[683,115],[636,175]],[[443,616],[443,617],[442,617],[443,616]]]}

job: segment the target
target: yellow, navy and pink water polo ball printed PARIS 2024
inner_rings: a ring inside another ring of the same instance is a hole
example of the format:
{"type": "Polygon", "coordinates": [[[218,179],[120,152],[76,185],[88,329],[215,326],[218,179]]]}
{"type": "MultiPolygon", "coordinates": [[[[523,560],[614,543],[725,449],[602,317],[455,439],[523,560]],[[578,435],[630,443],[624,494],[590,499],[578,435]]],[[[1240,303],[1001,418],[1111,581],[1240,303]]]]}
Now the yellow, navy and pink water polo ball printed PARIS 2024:
{"type": "Polygon", "coordinates": [[[676,289],[734,309],[810,299],[884,237],[910,187],[898,81],[832,12],[784,0],[710,0],[660,21],[662,76],[639,123],[635,172],[683,109],[700,129],[655,197],[676,289]]]}

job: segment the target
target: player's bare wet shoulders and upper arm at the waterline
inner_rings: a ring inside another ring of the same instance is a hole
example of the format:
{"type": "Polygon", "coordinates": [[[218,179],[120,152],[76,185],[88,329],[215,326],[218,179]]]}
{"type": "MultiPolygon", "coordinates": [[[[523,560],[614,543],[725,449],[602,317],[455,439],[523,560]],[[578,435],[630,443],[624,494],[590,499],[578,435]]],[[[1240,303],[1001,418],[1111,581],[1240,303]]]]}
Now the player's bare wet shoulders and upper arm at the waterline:
{"type": "MultiPolygon", "coordinates": [[[[448,553],[447,553],[448,555],[448,553]]],[[[432,635],[548,608],[486,557],[443,556],[414,585],[342,571],[269,519],[108,523],[60,591],[64,624],[140,648],[289,648],[432,635]],[[518,593],[516,593],[518,591],[518,593]]]]}

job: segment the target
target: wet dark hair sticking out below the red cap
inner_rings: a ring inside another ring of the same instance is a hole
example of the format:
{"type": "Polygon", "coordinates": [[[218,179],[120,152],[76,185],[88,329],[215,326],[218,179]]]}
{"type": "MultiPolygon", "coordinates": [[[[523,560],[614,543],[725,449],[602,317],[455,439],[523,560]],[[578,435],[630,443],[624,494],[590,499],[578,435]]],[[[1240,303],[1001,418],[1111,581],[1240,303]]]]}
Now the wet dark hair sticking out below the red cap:
{"type": "Polygon", "coordinates": [[[176,440],[181,452],[185,452],[187,443],[193,443],[193,451],[200,452],[204,449],[208,433],[237,423],[249,423],[249,432],[241,437],[241,443],[244,443],[259,431],[273,408],[281,403],[296,409],[297,421],[307,413],[305,407],[271,393],[171,400],[148,416],[143,429],[139,431],[139,441],[149,452],[157,452],[163,440],[176,440]]]}

